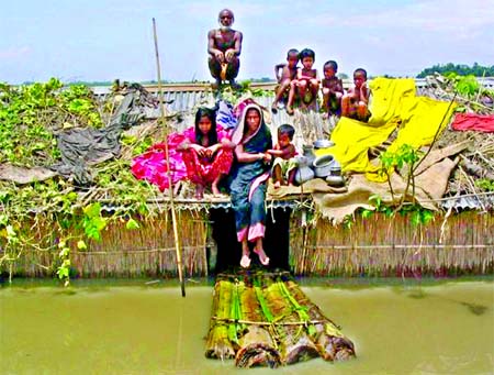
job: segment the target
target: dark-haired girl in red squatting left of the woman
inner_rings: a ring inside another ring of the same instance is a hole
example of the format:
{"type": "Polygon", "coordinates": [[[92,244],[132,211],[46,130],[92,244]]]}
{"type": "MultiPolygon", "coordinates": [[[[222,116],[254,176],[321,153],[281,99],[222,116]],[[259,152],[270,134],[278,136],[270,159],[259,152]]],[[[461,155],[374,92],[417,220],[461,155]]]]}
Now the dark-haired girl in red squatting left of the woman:
{"type": "Polygon", "coordinates": [[[202,199],[205,186],[211,184],[213,195],[220,196],[221,178],[228,174],[235,144],[226,131],[216,125],[216,113],[205,107],[195,113],[195,126],[183,133],[177,146],[186,164],[187,177],[195,184],[195,198],[202,199]]]}

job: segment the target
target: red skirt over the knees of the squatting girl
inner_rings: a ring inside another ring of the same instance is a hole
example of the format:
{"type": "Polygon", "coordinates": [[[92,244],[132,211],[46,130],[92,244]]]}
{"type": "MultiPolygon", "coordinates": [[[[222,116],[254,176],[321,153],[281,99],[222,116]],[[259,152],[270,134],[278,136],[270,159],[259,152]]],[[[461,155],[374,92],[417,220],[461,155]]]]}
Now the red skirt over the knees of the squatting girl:
{"type": "Polygon", "coordinates": [[[226,175],[233,163],[233,150],[220,148],[213,159],[200,158],[195,150],[182,152],[187,177],[197,185],[212,184],[217,176],[226,175]]]}

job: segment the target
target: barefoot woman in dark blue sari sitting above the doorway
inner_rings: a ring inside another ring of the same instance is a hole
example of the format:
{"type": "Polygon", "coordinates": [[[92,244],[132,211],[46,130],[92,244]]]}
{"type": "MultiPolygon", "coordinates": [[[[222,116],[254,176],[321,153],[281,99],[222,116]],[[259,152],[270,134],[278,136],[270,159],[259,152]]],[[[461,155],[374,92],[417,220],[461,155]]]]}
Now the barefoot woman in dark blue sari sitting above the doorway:
{"type": "Polygon", "coordinates": [[[242,243],[240,266],[250,266],[248,242],[262,265],[269,264],[262,239],[266,231],[266,185],[269,179],[272,156],[271,133],[262,118],[259,106],[248,104],[235,129],[232,141],[236,144],[236,163],[231,172],[232,207],[235,211],[237,240],[242,243]]]}

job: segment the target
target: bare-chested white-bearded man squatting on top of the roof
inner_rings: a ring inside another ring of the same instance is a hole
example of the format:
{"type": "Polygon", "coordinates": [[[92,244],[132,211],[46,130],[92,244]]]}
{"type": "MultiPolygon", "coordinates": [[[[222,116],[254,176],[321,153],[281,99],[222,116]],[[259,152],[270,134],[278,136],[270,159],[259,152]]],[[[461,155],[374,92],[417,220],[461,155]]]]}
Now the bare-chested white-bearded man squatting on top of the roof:
{"type": "Polygon", "coordinates": [[[223,9],[218,14],[220,29],[207,33],[209,66],[214,86],[220,87],[223,80],[228,80],[233,88],[238,87],[235,78],[238,75],[242,52],[242,33],[233,30],[234,14],[229,9],[223,9]]]}

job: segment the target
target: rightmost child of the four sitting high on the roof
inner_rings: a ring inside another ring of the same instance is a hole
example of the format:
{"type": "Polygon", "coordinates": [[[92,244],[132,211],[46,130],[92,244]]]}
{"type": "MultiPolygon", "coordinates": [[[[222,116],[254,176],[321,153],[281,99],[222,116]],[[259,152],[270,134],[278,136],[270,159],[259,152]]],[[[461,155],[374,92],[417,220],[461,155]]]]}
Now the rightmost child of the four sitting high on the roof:
{"type": "Polygon", "coordinates": [[[369,120],[370,112],[368,106],[370,90],[366,82],[366,69],[356,69],[353,71],[355,86],[341,98],[341,115],[359,121],[369,120]]]}

